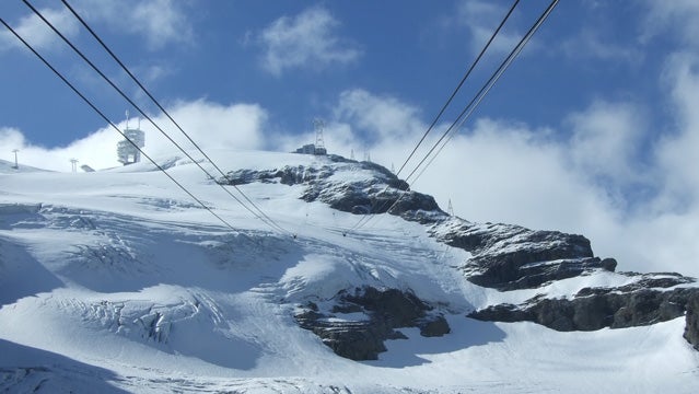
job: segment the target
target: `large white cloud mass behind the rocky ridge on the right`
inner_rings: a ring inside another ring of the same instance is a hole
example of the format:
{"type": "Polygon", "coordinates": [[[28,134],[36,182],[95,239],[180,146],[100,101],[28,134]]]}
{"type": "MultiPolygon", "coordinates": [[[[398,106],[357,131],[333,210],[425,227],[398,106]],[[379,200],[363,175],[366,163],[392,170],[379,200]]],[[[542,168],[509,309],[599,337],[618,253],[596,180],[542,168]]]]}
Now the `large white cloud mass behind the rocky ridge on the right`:
{"type": "MultiPolygon", "coordinates": [[[[681,130],[652,148],[648,163],[638,161],[641,140],[650,132],[639,106],[597,101],[564,119],[563,130],[476,120],[413,187],[435,196],[442,207],[451,199],[456,213],[468,220],[584,234],[597,255],[616,257],[621,270],[699,276],[699,175],[689,159],[699,157],[699,121],[690,111],[699,100],[699,72],[684,66],[673,71],[674,104],[686,108],[681,130]],[[561,135],[569,138],[552,138],[561,135]],[[637,184],[656,193],[637,196],[637,184]],[[678,198],[681,210],[666,204],[678,198]],[[633,208],[629,200],[636,200],[633,208]]],[[[361,159],[358,141],[366,141],[362,135],[369,130],[374,138],[366,150],[388,167],[406,159],[424,130],[412,106],[363,90],[341,93],[335,116],[325,139],[339,143],[326,143],[330,152],[348,155],[354,147],[361,159]]],[[[311,135],[305,138],[312,141],[311,135]]]]}

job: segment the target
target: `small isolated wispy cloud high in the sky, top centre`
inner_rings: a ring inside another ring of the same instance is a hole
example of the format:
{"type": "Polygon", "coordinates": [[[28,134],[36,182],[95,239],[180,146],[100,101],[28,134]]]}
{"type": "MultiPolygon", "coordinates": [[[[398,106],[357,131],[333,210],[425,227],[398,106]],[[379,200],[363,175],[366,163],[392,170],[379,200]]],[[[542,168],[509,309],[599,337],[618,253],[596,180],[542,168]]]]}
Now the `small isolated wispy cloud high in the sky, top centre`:
{"type": "Polygon", "coordinates": [[[294,18],[282,16],[258,36],[265,48],[263,67],[275,76],[292,68],[325,68],[356,61],[361,51],[335,34],[339,22],[324,8],[294,18]]]}

